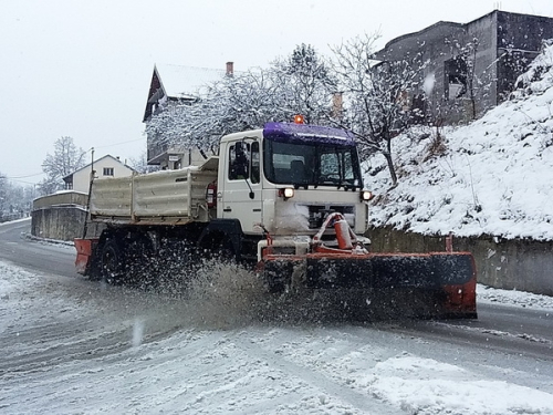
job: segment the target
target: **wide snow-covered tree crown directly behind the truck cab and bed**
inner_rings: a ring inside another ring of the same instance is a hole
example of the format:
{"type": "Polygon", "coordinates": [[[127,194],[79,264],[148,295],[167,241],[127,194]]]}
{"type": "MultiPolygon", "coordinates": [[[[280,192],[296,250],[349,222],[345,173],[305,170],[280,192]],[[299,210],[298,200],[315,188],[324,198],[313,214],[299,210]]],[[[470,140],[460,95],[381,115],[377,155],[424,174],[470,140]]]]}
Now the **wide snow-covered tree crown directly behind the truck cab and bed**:
{"type": "Polygon", "coordinates": [[[234,73],[208,85],[194,103],[167,102],[146,133],[158,144],[216,154],[222,135],[270,121],[303,114],[311,123],[325,123],[334,85],[327,63],[302,44],[267,70],[234,73]]]}

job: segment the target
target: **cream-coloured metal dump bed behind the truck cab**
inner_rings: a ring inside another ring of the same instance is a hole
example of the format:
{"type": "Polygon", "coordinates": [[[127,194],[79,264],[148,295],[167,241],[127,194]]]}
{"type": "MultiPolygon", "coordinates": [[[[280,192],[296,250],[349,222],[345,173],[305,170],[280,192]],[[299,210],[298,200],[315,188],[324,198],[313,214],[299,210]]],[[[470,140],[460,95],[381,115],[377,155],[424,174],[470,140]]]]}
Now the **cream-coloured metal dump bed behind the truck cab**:
{"type": "Polygon", "coordinates": [[[91,218],[139,225],[209,221],[206,190],[217,179],[213,158],[200,167],[94,180],[91,218]]]}

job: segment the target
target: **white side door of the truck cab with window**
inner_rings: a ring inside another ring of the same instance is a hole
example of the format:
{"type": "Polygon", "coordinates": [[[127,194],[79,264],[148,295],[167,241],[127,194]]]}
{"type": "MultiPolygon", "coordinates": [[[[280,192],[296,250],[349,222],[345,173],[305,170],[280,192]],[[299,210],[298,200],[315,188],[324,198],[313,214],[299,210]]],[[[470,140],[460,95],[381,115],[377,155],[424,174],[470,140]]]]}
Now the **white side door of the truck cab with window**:
{"type": "Polygon", "coordinates": [[[239,219],[246,234],[261,217],[261,164],[259,142],[240,139],[227,147],[227,172],[222,193],[222,217],[239,219]]]}

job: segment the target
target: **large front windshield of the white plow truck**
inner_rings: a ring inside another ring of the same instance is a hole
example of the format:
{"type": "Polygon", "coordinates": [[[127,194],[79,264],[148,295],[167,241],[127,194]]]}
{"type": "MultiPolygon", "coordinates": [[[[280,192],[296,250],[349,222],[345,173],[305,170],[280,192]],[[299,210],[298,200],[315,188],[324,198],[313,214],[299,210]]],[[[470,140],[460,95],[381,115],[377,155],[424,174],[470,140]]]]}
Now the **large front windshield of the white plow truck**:
{"type": "Polygon", "coordinates": [[[263,173],[274,184],[362,187],[355,146],[312,141],[265,139],[263,173]]]}

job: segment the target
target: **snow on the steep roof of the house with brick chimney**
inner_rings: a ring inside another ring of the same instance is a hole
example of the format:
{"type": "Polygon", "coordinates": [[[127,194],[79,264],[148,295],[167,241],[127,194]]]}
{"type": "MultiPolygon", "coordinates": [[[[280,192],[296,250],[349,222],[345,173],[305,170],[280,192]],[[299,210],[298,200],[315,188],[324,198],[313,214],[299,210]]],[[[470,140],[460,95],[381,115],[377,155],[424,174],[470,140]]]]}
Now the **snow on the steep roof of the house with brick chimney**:
{"type": "Polygon", "coordinates": [[[156,63],[157,74],[167,96],[198,95],[208,84],[220,81],[225,70],[156,63]]]}

